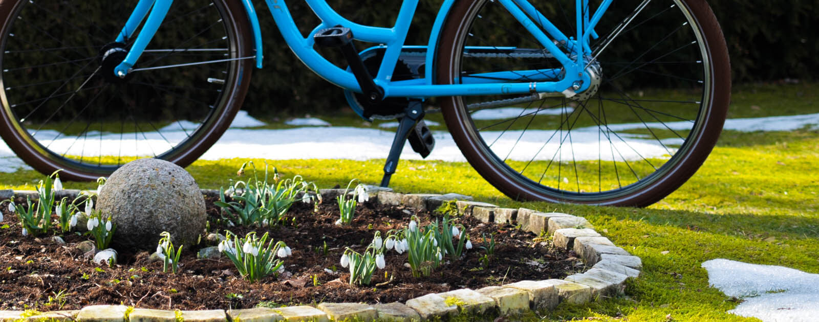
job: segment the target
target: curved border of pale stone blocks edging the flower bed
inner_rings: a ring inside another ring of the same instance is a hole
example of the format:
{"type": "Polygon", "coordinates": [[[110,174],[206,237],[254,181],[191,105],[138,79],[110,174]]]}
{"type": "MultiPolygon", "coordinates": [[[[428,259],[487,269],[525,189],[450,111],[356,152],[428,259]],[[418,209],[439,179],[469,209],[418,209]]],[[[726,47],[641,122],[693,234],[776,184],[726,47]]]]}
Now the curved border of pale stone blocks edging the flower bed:
{"type": "MultiPolygon", "coordinates": [[[[202,195],[219,196],[219,190],[201,190],[202,195]]],[[[419,210],[436,209],[455,200],[458,212],[486,223],[517,224],[522,230],[552,237],[556,247],[572,249],[591,269],[563,280],[523,280],[503,286],[472,290],[461,288],[446,293],[430,293],[406,303],[387,304],[321,303],[313,306],[257,307],[244,310],[165,311],[130,306],[86,306],[76,311],[51,311],[31,315],[30,311],[0,311],[0,322],[269,322],[383,320],[418,321],[459,314],[501,315],[530,310],[552,310],[561,302],[582,304],[624,293],[626,280],[640,275],[642,261],[594,230],[586,218],[560,212],[538,212],[527,208],[500,208],[473,201],[458,194],[398,194],[390,188],[368,186],[374,202],[404,205],[419,210]]],[[[343,189],[319,190],[324,199],[334,199],[343,189]]],[[[35,191],[0,190],[0,199],[36,196],[35,191]]],[[[79,190],[62,190],[58,197],[75,198],[79,190]]]]}

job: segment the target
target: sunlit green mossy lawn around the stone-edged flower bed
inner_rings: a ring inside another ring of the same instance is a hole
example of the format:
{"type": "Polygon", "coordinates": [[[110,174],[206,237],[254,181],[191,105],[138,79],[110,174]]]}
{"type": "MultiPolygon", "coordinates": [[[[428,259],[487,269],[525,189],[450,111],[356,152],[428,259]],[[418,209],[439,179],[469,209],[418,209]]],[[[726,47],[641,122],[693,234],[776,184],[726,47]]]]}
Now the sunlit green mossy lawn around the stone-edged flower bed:
{"type": "MultiPolygon", "coordinates": [[[[736,118],[765,116],[773,113],[771,110],[781,114],[819,111],[813,96],[806,100],[808,92],[799,94],[803,86],[789,88],[768,91],[771,87],[740,87],[735,92],[731,115],[736,118]],[[763,90],[767,94],[759,94],[763,90]],[[758,103],[749,101],[749,96],[757,97],[758,103]]],[[[244,161],[197,161],[188,171],[202,188],[218,188],[235,178],[244,161]]],[[[377,183],[382,162],[269,161],[285,175],[301,174],[320,188],[346,185],[351,178],[377,183]]],[[[703,168],[679,190],[649,208],[518,203],[483,181],[467,163],[401,161],[391,186],[399,192],[457,192],[506,207],[586,217],[615,244],[642,258],[643,274],[628,285],[626,297],[585,306],[561,305],[545,314],[546,320],[590,316],[602,320],[624,316],[629,321],[665,321],[667,316],[673,320],[753,320],[726,313],[737,302],[708,287],[708,275],[700,264],[727,258],[819,273],[817,172],[819,130],[803,129],[723,133],[703,168]],[[664,251],[668,253],[661,253],[664,251]]],[[[41,177],[32,171],[0,173],[0,188],[33,189],[41,177]]],[[[66,183],[66,188],[93,187],[95,184],[66,183]]]]}

